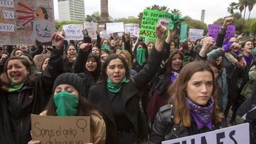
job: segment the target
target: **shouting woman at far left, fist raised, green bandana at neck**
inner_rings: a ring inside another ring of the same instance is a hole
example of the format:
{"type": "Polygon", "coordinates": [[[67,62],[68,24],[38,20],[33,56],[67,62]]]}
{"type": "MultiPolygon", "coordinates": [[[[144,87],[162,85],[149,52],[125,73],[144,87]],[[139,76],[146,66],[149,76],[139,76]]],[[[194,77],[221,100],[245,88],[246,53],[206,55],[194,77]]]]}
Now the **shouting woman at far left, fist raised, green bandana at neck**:
{"type": "Polygon", "coordinates": [[[63,72],[63,36],[53,34],[57,45],[48,67],[36,74],[24,57],[10,57],[0,80],[0,143],[25,144],[31,140],[31,114],[39,114],[50,99],[53,83],[63,72]]]}

